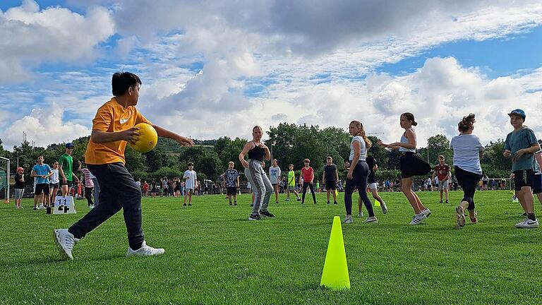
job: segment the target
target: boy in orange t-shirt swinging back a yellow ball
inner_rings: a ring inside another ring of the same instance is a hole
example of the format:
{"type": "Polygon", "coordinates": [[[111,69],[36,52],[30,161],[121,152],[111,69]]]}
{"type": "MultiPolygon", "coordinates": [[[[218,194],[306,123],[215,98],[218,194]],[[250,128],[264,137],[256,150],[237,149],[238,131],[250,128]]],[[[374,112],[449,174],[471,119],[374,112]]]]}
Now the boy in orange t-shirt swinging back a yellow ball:
{"type": "MultiPolygon", "coordinates": [[[[124,210],[124,222],[128,233],[126,256],[154,256],[164,253],[164,249],[152,248],[145,242],[141,217],[141,191],[124,166],[126,143],[135,143],[140,136],[138,128],[134,126],[139,123],[151,124],[135,109],[140,86],[141,80],[135,74],[114,73],[112,78],[114,97],[98,109],[92,120],[92,133],[85,152],[85,163],[100,181],[100,205],[90,210],[69,229],[54,229],[54,241],[64,259],[73,259],[73,246],[121,209],[124,210]]],[[[193,146],[193,141],[188,138],[160,126],[152,126],[158,136],[172,138],[183,146],[193,146]]]]}

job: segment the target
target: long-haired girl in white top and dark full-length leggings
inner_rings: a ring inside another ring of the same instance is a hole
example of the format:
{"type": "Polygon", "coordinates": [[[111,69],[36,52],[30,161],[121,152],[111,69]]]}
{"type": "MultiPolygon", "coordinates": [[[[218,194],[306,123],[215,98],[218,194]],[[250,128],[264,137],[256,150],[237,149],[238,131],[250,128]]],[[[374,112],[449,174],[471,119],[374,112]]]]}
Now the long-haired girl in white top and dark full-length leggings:
{"type": "Polygon", "coordinates": [[[367,196],[369,166],[367,165],[366,157],[367,151],[371,148],[371,140],[367,138],[363,124],[360,121],[351,121],[348,129],[352,140],[350,142],[349,162],[345,162],[344,164],[344,167],[348,168],[347,186],[344,189],[344,207],[347,210],[347,216],[344,217],[344,223],[354,222],[352,219],[352,194],[356,188],[368,213],[367,219],[363,222],[378,223],[373,212],[373,205],[367,196]]]}

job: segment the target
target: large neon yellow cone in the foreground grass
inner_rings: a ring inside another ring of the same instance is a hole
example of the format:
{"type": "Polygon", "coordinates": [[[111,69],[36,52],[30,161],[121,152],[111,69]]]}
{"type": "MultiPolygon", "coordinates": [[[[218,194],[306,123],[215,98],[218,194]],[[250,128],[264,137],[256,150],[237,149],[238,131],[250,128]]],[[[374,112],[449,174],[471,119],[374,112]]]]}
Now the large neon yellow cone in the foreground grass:
{"type": "Polygon", "coordinates": [[[327,244],[324,270],[320,286],[331,289],[350,289],[347,253],[344,251],[341,218],[335,216],[331,227],[330,242],[327,244]]]}

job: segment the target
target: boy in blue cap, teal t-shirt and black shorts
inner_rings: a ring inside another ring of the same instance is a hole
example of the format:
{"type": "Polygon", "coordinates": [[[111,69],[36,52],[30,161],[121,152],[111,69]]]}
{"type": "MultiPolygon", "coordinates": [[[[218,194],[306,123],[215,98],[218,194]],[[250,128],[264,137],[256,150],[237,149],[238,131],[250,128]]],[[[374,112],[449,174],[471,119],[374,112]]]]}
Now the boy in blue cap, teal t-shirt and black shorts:
{"type": "Polygon", "coordinates": [[[534,180],[534,153],[540,150],[540,145],[531,128],[524,126],[525,112],[514,109],[510,114],[510,124],[514,131],[508,133],[505,140],[505,152],[502,155],[512,157],[512,173],[514,174],[514,190],[527,217],[515,225],[517,228],[538,227],[534,215],[534,201],[531,187],[534,180]]]}

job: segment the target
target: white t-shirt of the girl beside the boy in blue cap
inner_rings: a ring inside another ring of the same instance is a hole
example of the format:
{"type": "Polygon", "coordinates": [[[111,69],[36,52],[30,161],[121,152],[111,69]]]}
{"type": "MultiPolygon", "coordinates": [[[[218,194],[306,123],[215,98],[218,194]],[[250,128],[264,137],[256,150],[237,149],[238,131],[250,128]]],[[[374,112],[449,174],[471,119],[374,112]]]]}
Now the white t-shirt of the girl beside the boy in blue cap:
{"type": "Polygon", "coordinates": [[[480,152],[483,145],[477,136],[473,134],[454,136],[450,146],[454,150],[454,166],[466,172],[482,174],[480,152]]]}

